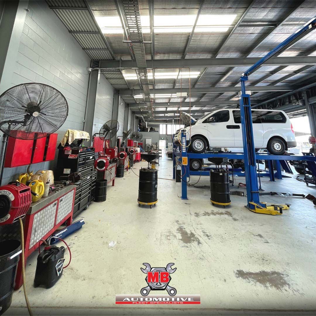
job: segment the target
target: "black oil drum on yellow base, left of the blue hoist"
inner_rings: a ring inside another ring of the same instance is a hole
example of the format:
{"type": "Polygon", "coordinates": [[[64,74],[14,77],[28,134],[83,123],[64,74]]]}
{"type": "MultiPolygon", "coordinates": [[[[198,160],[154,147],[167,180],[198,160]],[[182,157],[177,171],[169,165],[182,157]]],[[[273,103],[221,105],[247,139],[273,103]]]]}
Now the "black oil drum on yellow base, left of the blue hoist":
{"type": "Polygon", "coordinates": [[[139,204],[155,204],[157,202],[157,184],[157,169],[140,169],[137,202],[139,204]]]}

